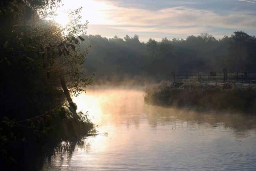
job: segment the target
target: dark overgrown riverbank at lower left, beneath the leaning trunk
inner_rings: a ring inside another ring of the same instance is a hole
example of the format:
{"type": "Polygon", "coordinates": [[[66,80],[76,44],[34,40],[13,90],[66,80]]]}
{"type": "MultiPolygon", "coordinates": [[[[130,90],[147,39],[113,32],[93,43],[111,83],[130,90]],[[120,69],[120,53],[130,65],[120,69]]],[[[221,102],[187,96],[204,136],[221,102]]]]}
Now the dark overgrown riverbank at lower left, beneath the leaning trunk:
{"type": "Polygon", "coordinates": [[[94,133],[94,125],[82,112],[73,117],[68,106],[50,112],[1,123],[1,166],[5,170],[39,170],[45,155],[53,155],[54,147],[62,141],[78,142],[87,134],[94,133]]]}

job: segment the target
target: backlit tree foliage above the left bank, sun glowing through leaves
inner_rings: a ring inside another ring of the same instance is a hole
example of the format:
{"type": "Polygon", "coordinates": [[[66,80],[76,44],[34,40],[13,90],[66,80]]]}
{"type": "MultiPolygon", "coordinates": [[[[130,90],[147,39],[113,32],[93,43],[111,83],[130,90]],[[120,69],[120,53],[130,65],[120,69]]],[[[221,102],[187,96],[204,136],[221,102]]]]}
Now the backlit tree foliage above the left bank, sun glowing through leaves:
{"type": "MultiPolygon", "coordinates": [[[[41,97],[50,98],[51,93],[56,94],[60,87],[60,76],[65,77],[69,90],[75,96],[85,91],[85,87],[92,81],[92,76],[85,78],[82,70],[88,49],[79,49],[79,44],[84,40],[79,34],[85,33],[87,28],[87,22],[80,22],[81,8],[69,12],[73,18],[66,28],[42,20],[37,14],[37,11],[48,8],[49,3],[51,8],[55,2],[6,2],[18,8],[16,11],[11,10],[11,14],[0,16],[2,21],[8,19],[8,22],[0,25],[3,30],[0,34],[0,102],[5,104],[2,117],[20,115],[23,108],[28,108],[31,103],[38,104],[45,100],[41,97]],[[17,107],[13,108],[13,104],[17,107]]],[[[8,5],[2,7],[9,10],[8,5]]],[[[42,111],[33,108],[28,113],[33,111],[40,114],[45,110],[47,108],[42,111]]]]}

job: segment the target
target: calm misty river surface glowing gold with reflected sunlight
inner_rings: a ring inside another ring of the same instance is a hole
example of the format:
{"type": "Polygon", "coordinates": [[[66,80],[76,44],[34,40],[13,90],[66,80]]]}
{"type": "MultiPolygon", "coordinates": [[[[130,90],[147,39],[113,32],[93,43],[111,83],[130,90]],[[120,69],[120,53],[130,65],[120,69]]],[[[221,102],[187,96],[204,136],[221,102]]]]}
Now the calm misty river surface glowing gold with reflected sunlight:
{"type": "Polygon", "coordinates": [[[99,135],[62,142],[42,170],[254,170],[256,118],[146,105],[143,89],[74,98],[99,135]],[[103,134],[107,132],[108,134],[103,134]]]}

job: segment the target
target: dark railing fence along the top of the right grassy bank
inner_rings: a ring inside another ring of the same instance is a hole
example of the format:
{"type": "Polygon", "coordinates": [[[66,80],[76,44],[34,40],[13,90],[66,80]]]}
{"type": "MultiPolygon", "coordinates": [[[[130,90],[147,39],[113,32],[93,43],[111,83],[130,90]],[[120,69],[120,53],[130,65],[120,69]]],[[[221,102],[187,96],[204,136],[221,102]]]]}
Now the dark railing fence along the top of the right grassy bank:
{"type": "Polygon", "coordinates": [[[256,73],[248,72],[172,72],[174,82],[251,82],[256,81],[256,73]]]}

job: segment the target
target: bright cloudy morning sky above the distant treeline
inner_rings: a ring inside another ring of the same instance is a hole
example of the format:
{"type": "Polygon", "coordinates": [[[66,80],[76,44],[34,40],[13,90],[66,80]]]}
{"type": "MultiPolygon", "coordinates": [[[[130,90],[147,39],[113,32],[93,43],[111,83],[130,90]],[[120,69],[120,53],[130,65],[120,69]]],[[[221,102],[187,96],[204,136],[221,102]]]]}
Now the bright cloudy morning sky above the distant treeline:
{"type": "Polygon", "coordinates": [[[61,9],[83,7],[87,35],[125,35],[161,40],[209,33],[217,39],[235,31],[256,35],[256,0],[62,0],[61,9]]]}

